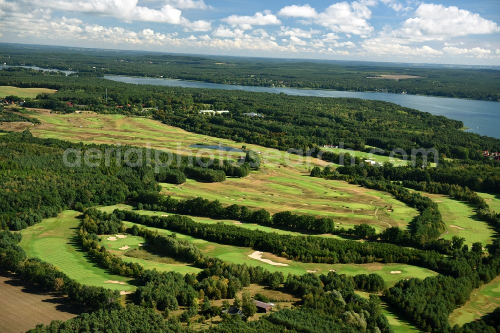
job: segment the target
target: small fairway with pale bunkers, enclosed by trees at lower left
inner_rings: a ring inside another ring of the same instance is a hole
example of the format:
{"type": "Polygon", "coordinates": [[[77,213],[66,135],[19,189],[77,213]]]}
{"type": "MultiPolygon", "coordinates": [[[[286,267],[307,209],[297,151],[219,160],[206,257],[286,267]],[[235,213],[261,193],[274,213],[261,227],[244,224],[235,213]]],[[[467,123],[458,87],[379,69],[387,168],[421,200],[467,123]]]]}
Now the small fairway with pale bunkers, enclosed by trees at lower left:
{"type": "Polygon", "coordinates": [[[156,269],[158,271],[176,271],[183,275],[185,273],[198,273],[201,270],[185,263],[155,262],[152,260],[144,260],[141,258],[126,256],[125,253],[127,251],[134,248],[140,248],[141,246],[139,244],[144,243],[144,239],[138,236],[126,235],[125,238],[115,237],[115,240],[109,240],[113,239],[110,238],[110,236],[116,235],[100,235],[99,245],[104,245],[108,251],[119,256],[123,261],[137,262],[145,269],[156,269]]]}

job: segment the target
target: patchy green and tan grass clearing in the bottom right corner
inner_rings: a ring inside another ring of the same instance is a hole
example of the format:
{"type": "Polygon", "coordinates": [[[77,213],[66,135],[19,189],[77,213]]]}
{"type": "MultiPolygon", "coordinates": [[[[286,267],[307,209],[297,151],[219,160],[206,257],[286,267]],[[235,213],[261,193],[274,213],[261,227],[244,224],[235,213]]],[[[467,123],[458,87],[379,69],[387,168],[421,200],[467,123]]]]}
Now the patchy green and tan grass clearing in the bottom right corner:
{"type": "Polygon", "coordinates": [[[472,290],[470,299],[449,315],[451,325],[476,320],[500,306],[500,276],[472,290]]]}

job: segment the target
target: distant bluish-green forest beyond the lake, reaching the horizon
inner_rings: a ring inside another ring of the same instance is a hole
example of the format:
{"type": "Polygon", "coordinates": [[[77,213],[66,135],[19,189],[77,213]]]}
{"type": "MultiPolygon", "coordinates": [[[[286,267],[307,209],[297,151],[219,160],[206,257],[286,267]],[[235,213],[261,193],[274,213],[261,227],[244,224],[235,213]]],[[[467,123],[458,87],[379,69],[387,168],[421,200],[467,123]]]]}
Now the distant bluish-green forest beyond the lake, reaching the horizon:
{"type": "Polygon", "coordinates": [[[3,44],[0,62],[78,71],[78,75],[120,74],[168,77],[211,83],[313,89],[387,91],[498,100],[500,71],[433,68],[359,61],[186,56],[157,52],[68,49],[3,44]],[[418,76],[383,79],[381,74],[418,76]]]}

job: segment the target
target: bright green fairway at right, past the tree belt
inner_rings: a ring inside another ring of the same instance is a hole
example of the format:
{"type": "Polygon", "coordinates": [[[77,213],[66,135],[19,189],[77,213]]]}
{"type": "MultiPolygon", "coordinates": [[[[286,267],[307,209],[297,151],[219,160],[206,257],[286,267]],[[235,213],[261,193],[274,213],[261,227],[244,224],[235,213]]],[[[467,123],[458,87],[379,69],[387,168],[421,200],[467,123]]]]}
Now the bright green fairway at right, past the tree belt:
{"type": "Polygon", "coordinates": [[[483,246],[492,243],[494,229],[486,222],[476,219],[472,206],[445,195],[420,193],[430,197],[439,207],[442,219],[447,226],[442,238],[451,239],[454,235],[463,237],[465,238],[464,243],[469,248],[476,241],[480,241],[483,246]]]}

